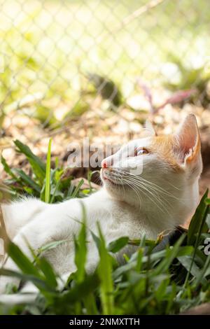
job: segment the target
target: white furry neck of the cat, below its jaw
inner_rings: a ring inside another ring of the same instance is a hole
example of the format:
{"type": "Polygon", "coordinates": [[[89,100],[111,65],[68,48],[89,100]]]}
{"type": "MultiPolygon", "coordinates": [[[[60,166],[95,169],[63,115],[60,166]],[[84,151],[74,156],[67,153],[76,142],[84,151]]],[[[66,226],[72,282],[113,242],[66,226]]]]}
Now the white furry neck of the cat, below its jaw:
{"type": "Polygon", "coordinates": [[[90,222],[95,218],[102,225],[104,223],[108,225],[111,221],[113,229],[123,226],[124,235],[132,237],[146,235],[149,239],[156,239],[160,232],[174,227],[173,220],[171,225],[169,223],[168,214],[158,214],[158,211],[154,211],[153,207],[145,209],[144,204],[139,207],[139,205],[118,200],[109,195],[106,188],[102,188],[97,193],[87,197],[85,208],[90,222]]]}

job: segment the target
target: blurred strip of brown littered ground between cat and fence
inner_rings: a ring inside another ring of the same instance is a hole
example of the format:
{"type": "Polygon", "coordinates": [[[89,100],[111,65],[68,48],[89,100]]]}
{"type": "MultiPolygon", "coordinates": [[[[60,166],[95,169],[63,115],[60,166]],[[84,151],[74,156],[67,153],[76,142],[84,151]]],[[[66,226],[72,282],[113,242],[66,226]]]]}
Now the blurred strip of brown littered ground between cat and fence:
{"type": "MultiPolygon", "coordinates": [[[[192,104],[186,104],[182,108],[167,104],[158,113],[151,115],[146,111],[131,111],[127,108],[118,109],[117,113],[104,111],[96,101],[92,111],[85,112],[78,119],[69,120],[57,130],[43,130],[38,121],[22,115],[22,112],[15,113],[15,115],[10,113],[10,116],[5,120],[0,148],[11,167],[22,167],[28,171],[27,161],[23,155],[15,152],[13,140],[20,139],[34,153],[45,158],[48,141],[52,137],[52,161],[58,157],[59,164],[67,167],[68,148],[72,142],[82,144],[83,139],[88,137],[90,143],[94,143],[98,148],[104,148],[105,144],[118,146],[130,139],[140,137],[144,130],[144,121],[147,118],[153,122],[158,134],[170,134],[176,131],[179,123],[188,113],[195,113],[200,127],[204,163],[204,170],[200,179],[200,193],[202,195],[210,186],[210,112],[208,109],[192,104]]],[[[87,169],[70,169],[70,173],[76,178],[84,177],[87,174],[87,169]]],[[[1,179],[5,178],[6,174],[1,167],[1,179]]],[[[96,181],[96,183],[98,182],[96,181]]]]}

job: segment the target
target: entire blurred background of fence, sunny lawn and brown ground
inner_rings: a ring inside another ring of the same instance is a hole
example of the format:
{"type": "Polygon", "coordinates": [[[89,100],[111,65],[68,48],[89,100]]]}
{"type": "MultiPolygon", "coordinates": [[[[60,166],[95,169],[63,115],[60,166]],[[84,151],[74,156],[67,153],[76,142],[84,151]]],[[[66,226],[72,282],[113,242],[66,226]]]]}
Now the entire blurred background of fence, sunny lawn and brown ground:
{"type": "MultiPolygon", "coordinates": [[[[210,185],[209,0],[0,0],[0,148],[20,139],[66,163],[84,137],[138,137],[146,118],[171,133],[197,116],[210,185]]],[[[72,172],[85,176],[85,172],[72,172]]],[[[1,176],[4,174],[1,170],[1,176]]]]}

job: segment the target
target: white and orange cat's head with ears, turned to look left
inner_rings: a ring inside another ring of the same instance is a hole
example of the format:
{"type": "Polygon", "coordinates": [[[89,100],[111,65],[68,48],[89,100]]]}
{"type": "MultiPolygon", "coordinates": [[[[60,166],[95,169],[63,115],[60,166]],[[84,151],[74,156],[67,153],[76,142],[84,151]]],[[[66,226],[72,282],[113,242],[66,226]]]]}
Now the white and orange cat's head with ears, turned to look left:
{"type": "Polygon", "coordinates": [[[196,118],[188,115],[175,134],[158,136],[152,125],[148,129],[150,136],[130,141],[102,161],[101,178],[116,200],[157,216],[171,216],[175,210],[178,224],[192,214],[199,198],[202,158],[196,118]]]}

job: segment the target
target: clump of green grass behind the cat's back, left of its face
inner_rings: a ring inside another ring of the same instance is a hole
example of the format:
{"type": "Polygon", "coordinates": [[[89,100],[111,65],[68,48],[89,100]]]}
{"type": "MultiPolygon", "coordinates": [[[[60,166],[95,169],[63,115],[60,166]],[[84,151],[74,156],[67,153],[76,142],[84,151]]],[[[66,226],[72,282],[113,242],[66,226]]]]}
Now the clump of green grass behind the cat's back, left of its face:
{"type": "Polygon", "coordinates": [[[19,197],[25,194],[38,197],[45,202],[53,203],[61,202],[70,197],[85,197],[92,190],[91,186],[90,189],[80,190],[80,186],[83,184],[82,179],[78,183],[78,186],[73,186],[71,184],[73,176],[69,176],[68,170],[59,167],[58,163],[55,163],[55,167],[52,168],[52,165],[50,165],[51,140],[48,145],[46,164],[41,158],[34,155],[27,145],[22,144],[21,141],[16,140],[14,144],[16,151],[24,154],[29,161],[31,172],[27,174],[22,169],[10,169],[6,160],[1,155],[1,164],[9,177],[4,182],[8,186],[6,193],[9,193],[11,197],[19,197]]]}

